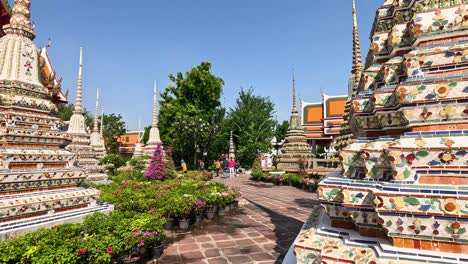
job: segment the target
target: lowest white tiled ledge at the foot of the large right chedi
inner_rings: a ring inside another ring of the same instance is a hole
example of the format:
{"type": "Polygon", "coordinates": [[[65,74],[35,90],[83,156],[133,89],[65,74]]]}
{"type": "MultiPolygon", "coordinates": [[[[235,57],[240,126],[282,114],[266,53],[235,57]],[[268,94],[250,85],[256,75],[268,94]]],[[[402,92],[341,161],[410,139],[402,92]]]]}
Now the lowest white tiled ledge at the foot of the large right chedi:
{"type": "Polygon", "coordinates": [[[294,242],[298,264],[315,263],[468,263],[467,254],[454,254],[392,246],[386,239],[335,228],[325,210],[317,206],[294,242]]]}

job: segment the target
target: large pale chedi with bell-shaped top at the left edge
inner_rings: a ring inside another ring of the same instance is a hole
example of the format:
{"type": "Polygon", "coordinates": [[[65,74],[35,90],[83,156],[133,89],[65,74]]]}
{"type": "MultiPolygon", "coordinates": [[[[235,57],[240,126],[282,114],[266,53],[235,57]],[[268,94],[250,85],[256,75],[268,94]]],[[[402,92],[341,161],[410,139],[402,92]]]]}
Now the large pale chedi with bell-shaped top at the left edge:
{"type": "Polygon", "coordinates": [[[30,0],[15,0],[0,38],[0,240],[40,227],[79,221],[94,211],[99,191],[78,187],[86,172],[53,103],[59,86],[41,80],[30,0]],[[54,88],[54,89],[52,89],[54,88]]]}

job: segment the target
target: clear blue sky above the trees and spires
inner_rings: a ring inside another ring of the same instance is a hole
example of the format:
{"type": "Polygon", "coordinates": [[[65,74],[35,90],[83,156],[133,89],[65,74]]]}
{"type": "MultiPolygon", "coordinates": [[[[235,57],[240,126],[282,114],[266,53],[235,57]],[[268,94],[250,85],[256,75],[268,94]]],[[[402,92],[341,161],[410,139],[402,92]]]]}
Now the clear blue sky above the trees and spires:
{"type": "MultiPolygon", "coordinates": [[[[357,0],[364,56],[376,9],[357,0]]],[[[201,61],[225,81],[223,103],[240,87],[270,96],[279,120],[291,110],[291,68],[298,94],[319,101],[345,94],[351,70],[351,0],[47,0],[32,2],[38,46],[49,54],[63,89],[75,100],[79,47],[84,48],[84,105],[94,112],[96,89],[106,112],[128,129],[149,125],[152,85],[201,61]]]]}

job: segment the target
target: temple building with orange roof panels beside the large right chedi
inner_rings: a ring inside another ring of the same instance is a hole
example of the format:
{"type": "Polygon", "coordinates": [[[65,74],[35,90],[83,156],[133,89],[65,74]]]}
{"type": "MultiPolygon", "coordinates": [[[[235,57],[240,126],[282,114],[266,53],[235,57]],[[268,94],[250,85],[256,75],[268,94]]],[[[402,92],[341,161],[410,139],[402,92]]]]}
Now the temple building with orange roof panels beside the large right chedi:
{"type": "Polygon", "coordinates": [[[312,153],[317,152],[317,145],[332,147],[340,135],[347,95],[329,96],[322,94],[322,101],[308,103],[301,101],[302,126],[307,143],[312,153]]]}

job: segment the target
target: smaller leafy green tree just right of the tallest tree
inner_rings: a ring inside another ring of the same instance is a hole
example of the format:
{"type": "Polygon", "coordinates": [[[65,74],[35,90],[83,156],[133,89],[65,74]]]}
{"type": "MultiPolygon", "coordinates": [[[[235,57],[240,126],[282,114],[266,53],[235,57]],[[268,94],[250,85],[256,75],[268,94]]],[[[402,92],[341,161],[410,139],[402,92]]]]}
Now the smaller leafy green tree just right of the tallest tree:
{"type": "Polygon", "coordinates": [[[233,131],[237,157],[244,167],[251,167],[258,154],[271,149],[275,135],[273,102],[253,92],[253,88],[241,89],[224,126],[224,130],[233,131]]]}

